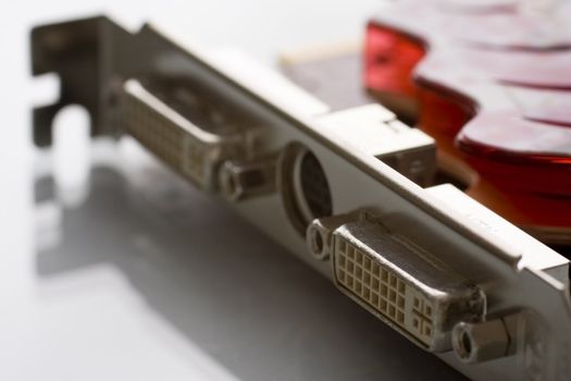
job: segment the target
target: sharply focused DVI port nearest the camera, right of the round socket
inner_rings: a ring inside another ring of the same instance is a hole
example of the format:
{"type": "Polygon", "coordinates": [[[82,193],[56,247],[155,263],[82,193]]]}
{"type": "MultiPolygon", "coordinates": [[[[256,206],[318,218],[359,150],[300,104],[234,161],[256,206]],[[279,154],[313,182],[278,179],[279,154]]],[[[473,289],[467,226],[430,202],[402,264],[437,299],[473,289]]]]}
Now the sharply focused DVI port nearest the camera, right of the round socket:
{"type": "Polygon", "coordinates": [[[335,228],[338,219],[313,221],[310,250],[328,257],[335,284],[392,328],[427,351],[446,352],[457,322],[482,320],[479,286],[376,221],[335,228]]]}

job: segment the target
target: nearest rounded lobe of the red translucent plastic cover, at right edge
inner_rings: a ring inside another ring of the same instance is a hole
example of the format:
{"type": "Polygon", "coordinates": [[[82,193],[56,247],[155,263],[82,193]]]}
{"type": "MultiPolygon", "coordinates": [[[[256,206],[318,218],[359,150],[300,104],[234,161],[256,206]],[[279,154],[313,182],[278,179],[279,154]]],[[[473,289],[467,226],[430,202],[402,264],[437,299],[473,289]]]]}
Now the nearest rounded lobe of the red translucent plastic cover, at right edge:
{"type": "Polygon", "coordinates": [[[510,192],[570,197],[571,128],[483,113],[462,128],[459,148],[487,181],[510,192]]]}

